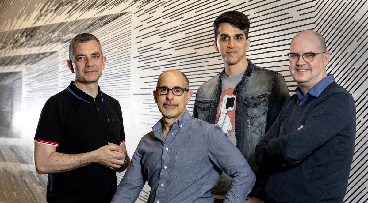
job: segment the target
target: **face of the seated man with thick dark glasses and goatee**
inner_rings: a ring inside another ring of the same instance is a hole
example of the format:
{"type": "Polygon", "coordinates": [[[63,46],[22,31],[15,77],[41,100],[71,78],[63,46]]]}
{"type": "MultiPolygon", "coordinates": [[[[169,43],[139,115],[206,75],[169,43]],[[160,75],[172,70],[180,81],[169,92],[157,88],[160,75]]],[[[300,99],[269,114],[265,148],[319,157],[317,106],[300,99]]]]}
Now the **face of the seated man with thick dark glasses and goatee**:
{"type": "MultiPolygon", "coordinates": [[[[157,87],[188,89],[185,83],[184,76],[181,72],[169,70],[161,75],[157,87]]],[[[173,120],[178,120],[185,113],[185,107],[189,103],[192,94],[193,92],[189,90],[184,91],[183,95],[173,95],[173,92],[170,90],[167,95],[159,95],[156,90],[153,90],[153,97],[162,113],[162,117],[173,120]]]]}

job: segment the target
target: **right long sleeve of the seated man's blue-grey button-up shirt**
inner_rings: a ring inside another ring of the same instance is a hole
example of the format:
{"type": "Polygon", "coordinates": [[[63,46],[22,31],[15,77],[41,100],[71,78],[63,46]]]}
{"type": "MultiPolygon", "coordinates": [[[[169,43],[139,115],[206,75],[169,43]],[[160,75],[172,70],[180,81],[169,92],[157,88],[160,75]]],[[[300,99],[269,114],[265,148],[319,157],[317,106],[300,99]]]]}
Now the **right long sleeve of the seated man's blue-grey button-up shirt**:
{"type": "Polygon", "coordinates": [[[218,125],[211,125],[206,136],[209,159],[232,178],[224,203],[245,202],[255,183],[248,162],[218,125]]]}

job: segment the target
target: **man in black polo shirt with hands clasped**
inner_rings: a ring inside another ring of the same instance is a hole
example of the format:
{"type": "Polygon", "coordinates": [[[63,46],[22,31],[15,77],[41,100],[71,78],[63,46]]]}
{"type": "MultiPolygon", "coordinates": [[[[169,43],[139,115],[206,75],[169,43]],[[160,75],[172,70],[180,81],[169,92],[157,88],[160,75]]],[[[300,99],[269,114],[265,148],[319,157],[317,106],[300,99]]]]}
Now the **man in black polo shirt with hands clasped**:
{"type": "Polygon", "coordinates": [[[98,86],[106,57],[95,36],[75,36],[69,57],[75,81],[42,109],[34,139],[36,171],[49,174],[47,202],[110,202],[116,171],[129,161],[120,104],[98,86]]]}

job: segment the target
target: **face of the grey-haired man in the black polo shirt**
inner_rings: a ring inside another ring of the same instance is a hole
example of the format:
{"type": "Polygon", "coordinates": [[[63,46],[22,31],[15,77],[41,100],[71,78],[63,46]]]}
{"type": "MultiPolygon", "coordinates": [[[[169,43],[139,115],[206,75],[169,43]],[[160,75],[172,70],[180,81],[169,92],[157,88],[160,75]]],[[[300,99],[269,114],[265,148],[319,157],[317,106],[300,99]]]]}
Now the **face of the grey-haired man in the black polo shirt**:
{"type": "Polygon", "coordinates": [[[77,43],[74,46],[75,59],[67,65],[75,73],[77,81],[82,83],[98,82],[105,69],[106,57],[102,56],[99,44],[95,40],[77,43]]]}

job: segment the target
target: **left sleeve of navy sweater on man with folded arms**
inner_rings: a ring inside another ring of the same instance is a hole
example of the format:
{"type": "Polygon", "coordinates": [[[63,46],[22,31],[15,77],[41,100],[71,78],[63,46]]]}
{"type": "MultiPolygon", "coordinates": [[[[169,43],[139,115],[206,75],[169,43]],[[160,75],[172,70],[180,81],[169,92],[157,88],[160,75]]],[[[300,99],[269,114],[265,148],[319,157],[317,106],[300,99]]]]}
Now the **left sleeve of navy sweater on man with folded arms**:
{"type": "MultiPolygon", "coordinates": [[[[275,163],[273,160],[269,159],[265,147],[267,143],[279,136],[281,116],[282,112],[277,116],[276,121],[273,123],[269,131],[259,140],[257,146],[255,147],[255,163],[261,168],[262,171],[271,172],[275,168],[275,163]]],[[[279,164],[280,165],[280,164],[279,164]]]]}

